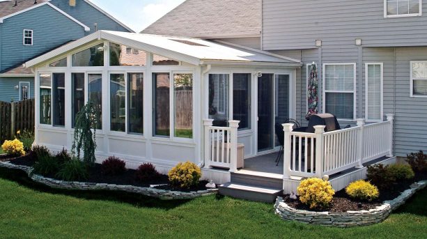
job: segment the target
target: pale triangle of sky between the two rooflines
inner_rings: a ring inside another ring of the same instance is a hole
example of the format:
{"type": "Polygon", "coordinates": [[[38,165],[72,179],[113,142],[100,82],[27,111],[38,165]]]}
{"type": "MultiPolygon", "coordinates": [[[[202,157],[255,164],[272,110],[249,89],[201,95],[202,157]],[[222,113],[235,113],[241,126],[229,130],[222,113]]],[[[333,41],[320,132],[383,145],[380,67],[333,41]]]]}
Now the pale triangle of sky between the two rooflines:
{"type": "Polygon", "coordinates": [[[140,32],[185,0],[91,0],[132,30],[140,32]]]}

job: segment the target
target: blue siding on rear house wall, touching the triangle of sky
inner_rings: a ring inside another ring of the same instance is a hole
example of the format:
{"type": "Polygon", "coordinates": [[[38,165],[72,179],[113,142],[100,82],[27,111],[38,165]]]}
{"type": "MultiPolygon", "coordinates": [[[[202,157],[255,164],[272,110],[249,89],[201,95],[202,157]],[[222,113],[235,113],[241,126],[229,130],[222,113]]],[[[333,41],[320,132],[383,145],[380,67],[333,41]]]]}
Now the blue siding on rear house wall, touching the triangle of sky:
{"type": "Polygon", "coordinates": [[[52,0],[50,3],[90,27],[91,33],[95,32],[95,23],[98,24],[98,30],[128,31],[116,21],[104,15],[104,13],[101,13],[96,8],[93,8],[93,6],[83,0],[77,0],[76,6],[70,6],[68,1],[63,0],[52,0]]]}

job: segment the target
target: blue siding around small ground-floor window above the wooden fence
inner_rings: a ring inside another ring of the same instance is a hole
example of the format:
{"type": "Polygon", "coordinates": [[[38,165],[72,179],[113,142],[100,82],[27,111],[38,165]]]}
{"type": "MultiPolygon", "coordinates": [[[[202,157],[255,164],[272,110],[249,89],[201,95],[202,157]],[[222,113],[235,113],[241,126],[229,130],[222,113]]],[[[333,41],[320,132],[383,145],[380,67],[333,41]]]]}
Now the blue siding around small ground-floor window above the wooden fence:
{"type": "Polygon", "coordinates": [[[15,86],[19,86],[20,82],[30,82],[30,98],[34,98],[33,77],[0,77],[0,101],[19,101],[20,90],[15,86]]]}

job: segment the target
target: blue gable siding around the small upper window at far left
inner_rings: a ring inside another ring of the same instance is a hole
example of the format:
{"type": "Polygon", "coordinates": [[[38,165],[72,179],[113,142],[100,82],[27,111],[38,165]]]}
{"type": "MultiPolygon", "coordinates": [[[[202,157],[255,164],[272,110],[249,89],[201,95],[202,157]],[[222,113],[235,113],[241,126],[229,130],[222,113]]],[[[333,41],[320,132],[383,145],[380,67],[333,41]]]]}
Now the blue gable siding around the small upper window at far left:
{"type": "Polygon", "coordinates": [[[83,26],[48,5],[10,17],[2,25],[0,70],[11,68],[86,34],[83,26]],[[32,46],[22,44],[24,29],[33,30],[32,46]]]}

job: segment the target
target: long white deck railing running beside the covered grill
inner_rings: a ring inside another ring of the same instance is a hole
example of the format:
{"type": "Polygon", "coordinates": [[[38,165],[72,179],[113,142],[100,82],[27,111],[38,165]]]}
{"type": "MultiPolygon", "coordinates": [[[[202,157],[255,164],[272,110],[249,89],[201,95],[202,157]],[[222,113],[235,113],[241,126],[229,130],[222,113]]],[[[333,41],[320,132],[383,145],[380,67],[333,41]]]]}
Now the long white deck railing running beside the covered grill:
{"type": "Polygon", "coordinates": [[[387,121],[325,132],[325,125],[314,133],[293,132],[293,124],[284,124],[284,178],[290,176],[323,177],[362,167],[364,162],[392,155],[393,115],[387,121]]]}

